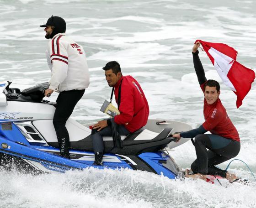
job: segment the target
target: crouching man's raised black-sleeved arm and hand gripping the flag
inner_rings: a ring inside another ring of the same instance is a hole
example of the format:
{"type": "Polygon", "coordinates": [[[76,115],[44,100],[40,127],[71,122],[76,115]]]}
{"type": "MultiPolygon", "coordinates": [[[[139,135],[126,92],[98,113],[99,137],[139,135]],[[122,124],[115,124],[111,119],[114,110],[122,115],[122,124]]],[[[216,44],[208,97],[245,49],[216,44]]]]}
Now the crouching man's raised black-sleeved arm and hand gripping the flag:
{"type": "Polygon", "coordinates": [[[197,74],[197,79],[198,79],[199,84],[201,85],[201,84],[205,83],[207,81],[207,79],[204,74],[203,65],[198,56],[199,52],[198,52],[197,48],[199,46],[200,46],[200,42],[197,41],[192,48],[192,54],[193,54],[193,62],[194,62],[194,68],[195,68],[195,71],[197,74]]]}

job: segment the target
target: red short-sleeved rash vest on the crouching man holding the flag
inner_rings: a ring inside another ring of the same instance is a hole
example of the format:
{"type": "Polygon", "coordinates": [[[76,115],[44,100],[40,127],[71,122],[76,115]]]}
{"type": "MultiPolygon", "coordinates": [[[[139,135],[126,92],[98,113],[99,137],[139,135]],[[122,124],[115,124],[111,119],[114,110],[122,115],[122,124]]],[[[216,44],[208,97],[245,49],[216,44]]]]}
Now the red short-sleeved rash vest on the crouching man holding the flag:
{"type": "MultiPolygon", "coordinates": [[[[205,83],[200,85],[203,92],[205,83]]],[[[204,98],[203,116],[205,119],[203,123],[203,128],[205,130],[210,131],[214,135],[220,135],[227,139],[240,141],[238,132],[232,121],[229,119],[226,109],[222,105],[219,98],[216,100],[215,103],[211,105],[208,104],[206,99],[204,98]]]]}

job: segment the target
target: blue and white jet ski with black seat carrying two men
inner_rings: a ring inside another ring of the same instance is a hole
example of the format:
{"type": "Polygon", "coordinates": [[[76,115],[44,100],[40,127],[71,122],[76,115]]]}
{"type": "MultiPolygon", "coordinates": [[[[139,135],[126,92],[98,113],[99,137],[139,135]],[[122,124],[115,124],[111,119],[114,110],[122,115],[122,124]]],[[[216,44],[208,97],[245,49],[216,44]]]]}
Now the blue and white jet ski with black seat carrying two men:
{"type": "MultiPolygon", "coordinates": [[[[69,118],[70,159],[59,156],[59,144],[53,127],[54,105],[43,100],[48,83],[20,91],[11,82],[0,84],[0,168],[43,173],[66,172],[93,166],[91,129],[69,118]]],[[[114,146],[112,137],[104,137],[105,154],[99,169],[129,168],[163,174],[174,179],[179,167],[168,154],[187,142],[174,142],[174,132],[192,127],[173,120],[149,119],[147,125],[121,137],[123,148],[114,146]],[[167,149],[166,149],[167,148],[167,149]]]]}

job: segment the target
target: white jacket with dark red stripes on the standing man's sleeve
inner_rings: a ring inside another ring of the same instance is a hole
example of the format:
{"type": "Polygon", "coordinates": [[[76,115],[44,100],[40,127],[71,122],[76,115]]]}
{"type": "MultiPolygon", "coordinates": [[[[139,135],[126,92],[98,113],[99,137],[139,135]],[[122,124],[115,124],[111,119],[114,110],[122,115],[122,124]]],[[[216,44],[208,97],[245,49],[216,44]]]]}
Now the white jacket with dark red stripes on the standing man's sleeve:
{"type": "Polygon", "coordinates": [[[62,92],[89,86],[85,51],[65,33],[58,33],[49,41],[46,58],[52,71],[49,89],[62,92]]]}

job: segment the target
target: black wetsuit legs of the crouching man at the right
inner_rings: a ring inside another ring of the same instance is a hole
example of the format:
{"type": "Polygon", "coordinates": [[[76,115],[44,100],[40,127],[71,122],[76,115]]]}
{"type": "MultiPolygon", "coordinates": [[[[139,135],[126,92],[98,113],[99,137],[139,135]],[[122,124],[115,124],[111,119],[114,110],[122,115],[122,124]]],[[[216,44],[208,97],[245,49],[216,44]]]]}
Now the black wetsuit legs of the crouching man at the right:
{"type": "Polygon", "coordinates": [[[194,174],[226,177],[226,171],[215,165],[237,156],[240,151],[240,142],[219,135],[203,134],[195,137],[195,147],[197,159],[191,165],[194,174]]]}

